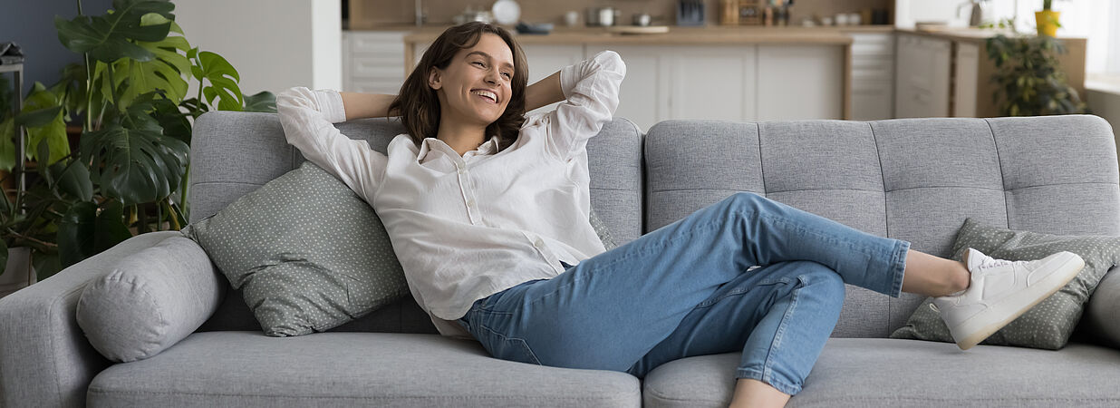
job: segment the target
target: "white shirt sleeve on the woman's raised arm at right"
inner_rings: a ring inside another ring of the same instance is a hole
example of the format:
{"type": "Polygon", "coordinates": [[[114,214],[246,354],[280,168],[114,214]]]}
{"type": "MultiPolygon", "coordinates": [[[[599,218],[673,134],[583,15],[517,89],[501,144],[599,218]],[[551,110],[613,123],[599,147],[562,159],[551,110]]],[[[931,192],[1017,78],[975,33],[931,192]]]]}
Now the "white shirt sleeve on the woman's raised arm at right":
{"type": "Polygon", "coordinates": [[[614,118],[625,76],[626,64],[613,50],[560,69],[566,101],[545,117],[549,147],[557,157],[568,160],[586,149],[587,140],[614,118]]]}

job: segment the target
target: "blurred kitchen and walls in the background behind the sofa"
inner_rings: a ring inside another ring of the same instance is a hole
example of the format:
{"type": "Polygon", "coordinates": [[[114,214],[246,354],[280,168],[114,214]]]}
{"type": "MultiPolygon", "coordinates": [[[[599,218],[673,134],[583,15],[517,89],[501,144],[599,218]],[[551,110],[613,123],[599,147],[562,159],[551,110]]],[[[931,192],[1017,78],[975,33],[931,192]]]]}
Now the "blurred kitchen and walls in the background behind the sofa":
{"type": "MultiPolygon", "coordinates": [[[[87,7],[111,7],[101,2],[87,7]]],[[[0,38],[36,56],[25,87],[55,82],[67,62],[50,57],[68,53],[50,19],[71,18],[71,3],[25,2],[18,13],[0,15],[0,38]]],[[[395,93],[440,31],[483,20],[519,33],[531,81],[601,49],[618,52],[628,74],[617,115],[643,130],[676,118],[1007,115],[1001,101],[1030,92],[1008,87],[1018,76],[1061,86],[1035,90],[1043,96],[1016,114],[1090,111],[1120,126],[1120,2],[1055,0],[1058,17],[1039,20],[1044,3],[1051,2],[192,0],[176,2],[175,13],[192,43],[237,67],[245,94],[295,85],[395,93]],[[1065,52],[1053,53],[1055,69],[997,67],[989,39],[1012,35],[1010,26],[1025,37],[1001,46],[1037,39],[1039,21],[1061,22],[1056,37],[1065,52]]]]}

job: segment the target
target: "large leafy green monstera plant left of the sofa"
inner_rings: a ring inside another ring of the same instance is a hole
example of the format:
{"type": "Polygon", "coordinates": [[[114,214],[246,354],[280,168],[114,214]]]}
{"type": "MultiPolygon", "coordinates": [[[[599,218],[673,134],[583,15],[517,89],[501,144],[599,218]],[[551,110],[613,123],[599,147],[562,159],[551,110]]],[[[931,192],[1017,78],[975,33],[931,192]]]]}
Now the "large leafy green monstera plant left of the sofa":
{"type": "MultiPolygon", "coordinates": [[[[47,221],[37,231],[54,233],[55,247],[36,238],[45,243],[34,248],[39,279],[133,234],[185,225],[195,118],[212,106],[276,111],[274,95],[243,95],[225,58],[192,47],[170,1],[114,0],[102,16],[84,15],[81,0],[77,7],[76,18],[55,17],[55,28],[84,64],[67,66],[59,84],[36,84],[28,100],[43,102],[16,118],[28,129],[27,158],[38,160],[38,191],[46,191],[39,198],[49,203],[37,202],[38,213],[18,196],[0,203],[7,217],[0,221],[37,216],[47,221]],[[192,80],[195,95],[187,94],[192,80]],[[65,133],[72,114],[84,117],[76,151],[65,133]]],[[[10,142],[0,142],[0,157],[15,156],[10,142]]],[[[2,233],[9,247],[27,242],[18,229],[2,233]]]]}

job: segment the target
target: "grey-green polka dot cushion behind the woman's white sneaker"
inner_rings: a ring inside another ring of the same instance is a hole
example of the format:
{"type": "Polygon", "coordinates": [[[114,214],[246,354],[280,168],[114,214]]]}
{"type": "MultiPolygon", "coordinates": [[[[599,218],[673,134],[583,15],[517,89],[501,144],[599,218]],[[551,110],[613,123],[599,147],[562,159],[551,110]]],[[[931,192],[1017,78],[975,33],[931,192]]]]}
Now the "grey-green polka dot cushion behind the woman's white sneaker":
{"type": "MultiPolygon", "coordinates": [[[[961,260],[968,248],[1006,260],[1042,259],[1058,251],[1070,251],[1085,260],[1070,284],[1046,298],[980,344],[1016,345],[1057,350],[1070,341],[1081,319],[1085,303],[1104,273],[1120,265],[1120,238],[1067,237],[987,226],[972,219],[956,233],[953,259],[961,260]]],[[[892,339],[917,339],[952,342],[941,315],[927,306],[926,299],[911,315],[906,325],[890,334],[892,339]]]]}

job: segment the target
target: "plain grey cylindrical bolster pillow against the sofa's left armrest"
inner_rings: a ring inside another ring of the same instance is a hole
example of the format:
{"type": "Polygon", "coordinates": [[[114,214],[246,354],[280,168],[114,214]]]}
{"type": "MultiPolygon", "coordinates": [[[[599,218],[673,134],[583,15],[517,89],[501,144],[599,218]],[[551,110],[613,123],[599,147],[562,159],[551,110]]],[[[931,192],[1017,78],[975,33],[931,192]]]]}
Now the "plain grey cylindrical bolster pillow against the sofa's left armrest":
{"type": "Polygon", "coordinates": [[[109,360],[143,360],[194,333],[217,310],[227,285],[195,241],[168,238],[86,285],[77,324],[109,360]]]}

